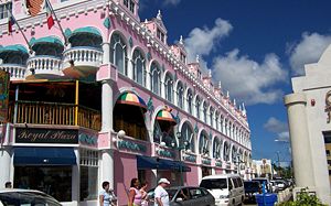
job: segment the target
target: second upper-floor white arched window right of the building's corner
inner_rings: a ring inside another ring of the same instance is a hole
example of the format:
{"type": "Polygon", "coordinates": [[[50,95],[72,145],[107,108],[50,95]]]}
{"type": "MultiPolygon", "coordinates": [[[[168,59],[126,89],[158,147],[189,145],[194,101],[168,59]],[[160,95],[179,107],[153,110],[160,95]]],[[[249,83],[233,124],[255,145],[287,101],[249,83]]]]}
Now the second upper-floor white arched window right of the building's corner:
{"type": "Polygon", "coordinates": [[[134,80],[143,85],[145,83],[145,57],[139,50],[135,50],[132,55],[134,80]]]}

